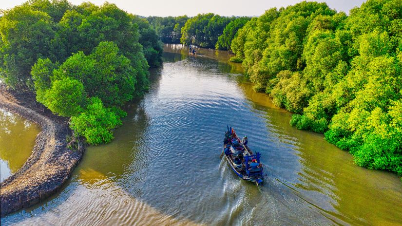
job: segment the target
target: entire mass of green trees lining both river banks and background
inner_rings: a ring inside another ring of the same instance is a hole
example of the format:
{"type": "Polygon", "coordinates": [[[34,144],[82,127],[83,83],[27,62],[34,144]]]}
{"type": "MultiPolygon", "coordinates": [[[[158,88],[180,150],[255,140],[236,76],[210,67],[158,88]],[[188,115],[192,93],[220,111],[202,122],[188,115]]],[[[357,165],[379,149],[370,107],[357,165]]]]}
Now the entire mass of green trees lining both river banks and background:
{"type": "Polygon", "coordinates": [[[31,0],[0,18],[0,77],[99,144],[121,124],[119,107],[148,87],[160,40],[229,50],[255,91],[295,113],[292,126],[402,175],[401,28],[400,0],[367,0],[349,16],[303,1],[254,18],[146,19],[111,3],[31,0]]]}

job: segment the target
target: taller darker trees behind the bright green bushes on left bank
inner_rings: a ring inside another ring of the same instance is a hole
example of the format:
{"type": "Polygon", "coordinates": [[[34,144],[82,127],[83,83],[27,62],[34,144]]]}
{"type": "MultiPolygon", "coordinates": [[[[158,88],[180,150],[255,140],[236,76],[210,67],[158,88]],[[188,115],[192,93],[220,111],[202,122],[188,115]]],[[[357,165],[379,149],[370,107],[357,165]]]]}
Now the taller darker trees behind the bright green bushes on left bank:
{"type": "Polygon", "coordinates": [[[111,3],[98,7],[32,0],[5,10],[0,24],[0,76],[18,90],[34,91],[30,72],[39,58],[61,63],[72,53],[92,53],[102,41],[113,41],[119,54],[130,60],[137,81],[135,95],[148,86],[149,65],[161,62],[162,47],[153,28],[111,3]]]}

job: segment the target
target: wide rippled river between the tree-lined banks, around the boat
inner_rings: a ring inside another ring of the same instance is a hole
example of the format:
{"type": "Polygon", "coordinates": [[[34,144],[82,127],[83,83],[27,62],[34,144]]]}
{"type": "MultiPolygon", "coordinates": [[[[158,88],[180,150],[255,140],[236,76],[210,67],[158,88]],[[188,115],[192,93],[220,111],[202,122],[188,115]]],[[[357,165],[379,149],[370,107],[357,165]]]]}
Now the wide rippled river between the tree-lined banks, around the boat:
{"type": "Polygon", "coordinates": [[[115,140],[89,147],[59,193],[1,225],[402,224],[397,175],[360,168],[322,134],[292,128],[226,52],[164,51],[115,140]],[[220,159],[227,125],[262,153],[262,187],[220,159]]]}

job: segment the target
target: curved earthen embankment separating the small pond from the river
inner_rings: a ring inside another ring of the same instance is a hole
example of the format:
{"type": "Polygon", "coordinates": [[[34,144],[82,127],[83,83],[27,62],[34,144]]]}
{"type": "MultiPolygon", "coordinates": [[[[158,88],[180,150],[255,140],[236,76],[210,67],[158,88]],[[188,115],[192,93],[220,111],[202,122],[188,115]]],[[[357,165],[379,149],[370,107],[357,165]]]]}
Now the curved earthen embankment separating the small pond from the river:
{"type": "Polygon", "coordinates": [[[35,146],[26,163],[1,182],[1,216],[30,207],[56,193],[81,160],[84,148],[67,148],[72,135],[65,118],[44,110],[31,97],[8,92],[0,85],[0,108],[40,125],[35,146]]]}

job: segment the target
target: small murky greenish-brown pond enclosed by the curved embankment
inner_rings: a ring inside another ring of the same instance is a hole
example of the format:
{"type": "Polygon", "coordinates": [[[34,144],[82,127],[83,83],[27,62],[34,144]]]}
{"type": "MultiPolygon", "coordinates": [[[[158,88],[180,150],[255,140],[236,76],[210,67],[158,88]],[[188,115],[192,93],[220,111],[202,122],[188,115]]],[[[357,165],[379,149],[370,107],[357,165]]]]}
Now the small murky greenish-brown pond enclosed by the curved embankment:
{"type": "Polygon", "coordinates": [[[0,181],[24,165],[38,132],[38,125],[0,109],[0,181]]]}

